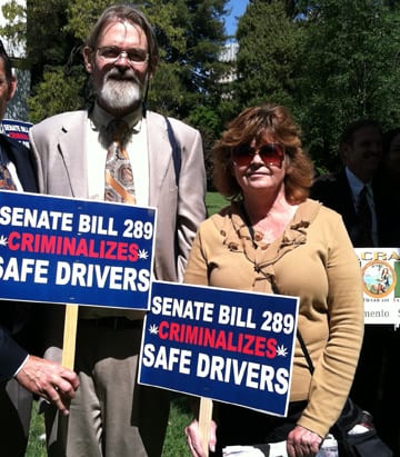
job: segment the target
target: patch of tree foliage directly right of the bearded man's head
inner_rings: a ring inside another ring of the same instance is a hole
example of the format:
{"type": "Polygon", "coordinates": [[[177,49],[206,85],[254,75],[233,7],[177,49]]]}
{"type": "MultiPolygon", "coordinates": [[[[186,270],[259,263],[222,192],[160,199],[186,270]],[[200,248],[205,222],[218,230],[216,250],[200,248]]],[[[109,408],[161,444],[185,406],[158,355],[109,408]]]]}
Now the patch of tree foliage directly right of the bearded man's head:
{"type": "Polygon", "coordinates": [[[150,107],[160,109],[162,100],[166,112],[187,119],[199,105],[217,105],[226,3],[227,0],[176,0],[149,8],[164,63],[156,71],[150,107]]]}

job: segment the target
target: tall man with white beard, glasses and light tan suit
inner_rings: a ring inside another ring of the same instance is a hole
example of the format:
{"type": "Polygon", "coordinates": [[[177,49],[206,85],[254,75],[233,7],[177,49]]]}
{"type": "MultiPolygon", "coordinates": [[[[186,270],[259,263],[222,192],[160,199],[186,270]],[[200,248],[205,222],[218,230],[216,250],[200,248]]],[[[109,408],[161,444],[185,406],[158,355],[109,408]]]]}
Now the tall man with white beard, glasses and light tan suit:
{"type": "MultiPolygon", "coordinates": [[[[83,58],[93,105],[53,116],[30,130],[40,191],[157,207],[153,277],[181,281],[197,228],[206,217],[201,136],[169,118],[179,145],[177,168],[167,119],[146,109],[159,51],[151,26],[136,8],[106,9],[89,33],[83,58]],[[114,192],[104,172],[111,160],[108,126],[116,119],[127,125],[116,149],[117,157],[128,153],[122,178],[128,181],[133,176],[132,195],[126,199],[114,192]]],[[[80,389],[71,403],[68,427],[58,427],[57,411],[46,405],[49,456],[161,456],[169,395],[136,381],[142,318],[142,311],[118,309],[118,304],[79,307],[74,369],[80,389]]],[[[62,328],[59,336],[59,347],[49,348],[49,357],[60,358],[62,328]]]]}

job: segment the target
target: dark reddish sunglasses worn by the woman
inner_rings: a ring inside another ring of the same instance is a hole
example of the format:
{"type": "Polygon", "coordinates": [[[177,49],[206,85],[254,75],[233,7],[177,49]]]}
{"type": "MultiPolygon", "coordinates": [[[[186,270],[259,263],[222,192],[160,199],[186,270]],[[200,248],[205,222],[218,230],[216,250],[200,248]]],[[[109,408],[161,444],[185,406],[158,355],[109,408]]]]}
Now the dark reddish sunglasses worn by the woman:
{"type": "Polygon", "coordinates": [[[284,149],[277,142],[269,142],[257,149],[251,148],[249,145],[241,145],[232,150],[232,160],[238,167],[248,167],[256,153],[261,157],[266,165],[282,167],[284,149]]]}

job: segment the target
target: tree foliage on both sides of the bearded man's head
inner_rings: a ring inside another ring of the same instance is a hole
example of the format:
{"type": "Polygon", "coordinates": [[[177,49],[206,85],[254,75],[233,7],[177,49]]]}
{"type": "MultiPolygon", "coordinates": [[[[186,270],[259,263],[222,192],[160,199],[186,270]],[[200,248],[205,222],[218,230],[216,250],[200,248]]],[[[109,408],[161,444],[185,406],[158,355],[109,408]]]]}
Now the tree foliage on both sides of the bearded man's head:
{"type": "MultiPolygon", "coordinates": [[[[216,106],[216,78],[223,43],[223,16],[228,0],[147,0],[136,4],[148,16],[160,44],[161,61],[151,82],[149,106],[181,119],[193,107],[216,106]]],[[[106,0],[27,0],[26,10],[10,2],[8,34],[16,42],[27,18],[27,66],[32,71],[30,117],[33,122],[86,106],[86,73],[81,44],[106,0]],[[62,77],[63,74],[63,77],[62,77]],[[68,97],[67,97],[68,95],[68,97]],[[59,98],[59,101],[54,101],[59,98]]],[[[197,126],[201,127],[201,126],[197,126]]]]}

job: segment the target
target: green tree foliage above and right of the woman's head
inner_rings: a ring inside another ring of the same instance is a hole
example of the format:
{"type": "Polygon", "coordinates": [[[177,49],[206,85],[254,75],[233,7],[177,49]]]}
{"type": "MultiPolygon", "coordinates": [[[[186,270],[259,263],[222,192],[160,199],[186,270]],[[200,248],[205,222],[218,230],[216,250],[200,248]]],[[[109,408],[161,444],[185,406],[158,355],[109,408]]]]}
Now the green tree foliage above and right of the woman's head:
{"type": "Polygon", "coordinates": [[[239,107],[289,106],[317,169],[339,165],[344,126],[400,125],[399,1],[250,0],[239,22],[239,107]]]}

